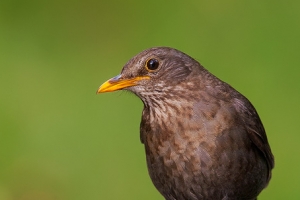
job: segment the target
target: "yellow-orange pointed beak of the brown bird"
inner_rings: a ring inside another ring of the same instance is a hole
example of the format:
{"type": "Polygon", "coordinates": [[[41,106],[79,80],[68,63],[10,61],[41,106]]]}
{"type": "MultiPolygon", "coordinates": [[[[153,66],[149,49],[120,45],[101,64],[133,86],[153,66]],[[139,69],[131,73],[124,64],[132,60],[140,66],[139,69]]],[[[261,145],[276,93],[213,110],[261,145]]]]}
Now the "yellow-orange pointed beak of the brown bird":
{"type": "Polygon", "coordinates": [[[135,86],[140,80],[145,80],[149,78],[149,76],[137,76],[131,79],[122,79],[122,76],[118,75],[104,82],[97,90],[97,94],[104,92],[113,92],[116,90],[122,90],[130,86],[135,86]]]}

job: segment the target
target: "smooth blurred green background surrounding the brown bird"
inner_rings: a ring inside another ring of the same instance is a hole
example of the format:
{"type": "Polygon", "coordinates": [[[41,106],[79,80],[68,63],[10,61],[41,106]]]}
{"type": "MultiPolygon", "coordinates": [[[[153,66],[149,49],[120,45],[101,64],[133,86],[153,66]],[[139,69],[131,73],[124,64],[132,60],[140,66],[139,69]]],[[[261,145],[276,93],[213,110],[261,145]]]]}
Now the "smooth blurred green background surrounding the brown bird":
{"type": "Polygon", "coordinates": [[[163,199],[142,103],[96,95],[138,52],[171,46],[257,108],[276,158],[263,199],[300,199],[300,1],[0,2],[0,200],[163,199]]]}

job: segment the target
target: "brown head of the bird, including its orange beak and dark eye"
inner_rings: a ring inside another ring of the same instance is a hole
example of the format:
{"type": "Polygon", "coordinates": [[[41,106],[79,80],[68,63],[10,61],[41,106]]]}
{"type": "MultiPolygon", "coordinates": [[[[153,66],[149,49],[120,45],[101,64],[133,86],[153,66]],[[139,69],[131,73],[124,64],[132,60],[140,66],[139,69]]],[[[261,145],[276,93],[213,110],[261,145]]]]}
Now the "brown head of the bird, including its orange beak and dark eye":
{"type": "MultiPolygon", "coordinates": [[[[97,93],[129,90],[142,100],[178,87],[200,70],[200,64],[188,55],[168,47],[147,49],[123,67],[121,74],[104,82],[97,93]],[[196,66],[195,66],[196,65],[196,66]]],[[[178,88],[177,88],[178,89],[178,88]]]]}

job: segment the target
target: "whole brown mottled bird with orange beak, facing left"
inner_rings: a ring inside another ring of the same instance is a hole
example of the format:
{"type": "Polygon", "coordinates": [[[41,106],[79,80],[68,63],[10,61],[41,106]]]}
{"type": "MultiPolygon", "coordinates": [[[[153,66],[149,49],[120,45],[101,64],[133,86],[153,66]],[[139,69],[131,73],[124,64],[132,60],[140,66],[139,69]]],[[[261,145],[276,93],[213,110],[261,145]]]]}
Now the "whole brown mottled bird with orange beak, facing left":
{"type": "Polygon", "coordinates": [[[274,156],[251,102],[189,55],[146,49],[97,93],[130,91],[144,108],[140,140],[166,200],[254,200],[274,156]]]}

